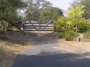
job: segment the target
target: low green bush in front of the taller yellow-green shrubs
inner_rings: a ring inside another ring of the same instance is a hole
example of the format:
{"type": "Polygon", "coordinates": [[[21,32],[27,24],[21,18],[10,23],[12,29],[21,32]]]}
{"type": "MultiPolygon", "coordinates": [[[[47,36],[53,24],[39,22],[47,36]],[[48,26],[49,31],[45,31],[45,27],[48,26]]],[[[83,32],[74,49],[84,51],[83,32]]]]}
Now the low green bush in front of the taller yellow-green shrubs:
{"type": "Polygon", "coordinates": [[[76,36],[78,36],[78,33],[74,31],[65,31],[59,34],[59,38],[67,41],[72,41],[76,36]]]}

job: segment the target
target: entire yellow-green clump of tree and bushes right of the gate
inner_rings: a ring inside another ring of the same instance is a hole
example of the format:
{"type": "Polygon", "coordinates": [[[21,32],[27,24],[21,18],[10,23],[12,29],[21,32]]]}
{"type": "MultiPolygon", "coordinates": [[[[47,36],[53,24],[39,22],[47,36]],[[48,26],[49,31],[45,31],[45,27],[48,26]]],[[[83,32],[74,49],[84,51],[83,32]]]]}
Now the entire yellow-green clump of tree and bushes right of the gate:
{"type": "Polygon", "coordinates": [[[84,6],[75,5],[67,12],[67,17],[59,17],[55,21],[55,31],[59,32],[59,38],[73,40],[77,33],[84,33],[90,29],[90,23],[83,18],[84,6]]]}

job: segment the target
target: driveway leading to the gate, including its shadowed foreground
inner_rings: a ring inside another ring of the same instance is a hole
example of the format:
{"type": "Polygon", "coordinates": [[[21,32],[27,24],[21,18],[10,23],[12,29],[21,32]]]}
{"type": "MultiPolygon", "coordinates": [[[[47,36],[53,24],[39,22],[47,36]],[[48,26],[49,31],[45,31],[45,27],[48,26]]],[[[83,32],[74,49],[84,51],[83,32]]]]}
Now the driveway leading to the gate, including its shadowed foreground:
{"type": "Polygon", "coordinates": [[[51,35],[32,35],[32,48],[23,49],[12,67],[90,67],[90,52],[70,43],[51,35]]]}

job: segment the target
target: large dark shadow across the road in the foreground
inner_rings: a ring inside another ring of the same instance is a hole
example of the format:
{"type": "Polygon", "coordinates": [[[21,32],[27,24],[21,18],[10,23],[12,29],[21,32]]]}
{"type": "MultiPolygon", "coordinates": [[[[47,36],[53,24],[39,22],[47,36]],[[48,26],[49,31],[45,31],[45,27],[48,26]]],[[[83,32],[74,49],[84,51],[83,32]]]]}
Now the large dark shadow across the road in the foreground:
{"type": "Polygon", "coordinates": [[[18,55],[12,67],[90,67],[86,54],[40,53],[39,55],[18,55]]]}

